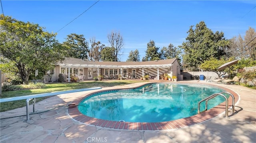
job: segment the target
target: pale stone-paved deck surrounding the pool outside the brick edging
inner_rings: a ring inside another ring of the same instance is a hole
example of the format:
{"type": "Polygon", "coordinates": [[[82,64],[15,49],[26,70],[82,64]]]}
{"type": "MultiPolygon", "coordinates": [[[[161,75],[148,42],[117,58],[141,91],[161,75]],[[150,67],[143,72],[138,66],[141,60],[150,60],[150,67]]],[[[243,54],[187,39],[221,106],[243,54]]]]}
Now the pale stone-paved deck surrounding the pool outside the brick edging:
{"type": "MultiPolygon", "coordinates": [[[[152,80],[152,82],[155,82],[152,80]]],[[[202,83],[204,80],[182,81],[202,83]]],[[[178,83],[178,82],[177,82],[178,83]]],[[[131,88],[141,83],[129,84],[123,88],[131,88]]],[[[256,90],[239,85],[218,84],[236,92],[240,99],[236,103],[238,112],[230,118],[219,116],[178,129],[159,131],[118,130],[106,127],[96,127],[80,123],[68,114],[67,105],[77,98],[84,97],[85,91],[61,94],[36,103],[36,111],[62,106],[39,114],[30,115],[26,121],[26,107],[1,112],[0,142],[1,143],[255,143],[256,142],[256,90]],[[20,116],[15,118],[8,118],[20,116]]],[[[116,89],[116,87],[102,88],[116,89]]],[[[30,106],[32,112],[32,105],[30,106]]],[[[231,115],[231,110],[229,110],[231,115]]]]}

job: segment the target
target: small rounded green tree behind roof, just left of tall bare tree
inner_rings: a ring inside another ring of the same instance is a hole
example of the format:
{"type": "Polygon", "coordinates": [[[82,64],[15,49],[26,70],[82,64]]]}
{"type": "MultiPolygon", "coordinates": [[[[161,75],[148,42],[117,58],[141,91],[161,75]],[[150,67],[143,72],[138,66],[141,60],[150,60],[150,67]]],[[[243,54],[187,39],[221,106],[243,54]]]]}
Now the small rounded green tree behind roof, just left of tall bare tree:
{"type": "Polygon", "coordinates": [[[104,47],[101,51],[101,61],[115,61],[114,50],[113,47],[104,47]]]}

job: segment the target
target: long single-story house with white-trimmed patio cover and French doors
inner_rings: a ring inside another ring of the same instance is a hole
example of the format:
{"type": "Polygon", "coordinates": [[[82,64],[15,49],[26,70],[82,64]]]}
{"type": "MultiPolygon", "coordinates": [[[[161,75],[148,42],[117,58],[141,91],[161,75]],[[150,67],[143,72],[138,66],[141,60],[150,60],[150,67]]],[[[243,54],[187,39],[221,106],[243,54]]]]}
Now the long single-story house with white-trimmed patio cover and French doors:
{"type": "MultiPolygon", "coordinates": [[[[141,76],[148,74],[150,79],[160,79],[160,75],[170,73],[180,75],[180,65],[176,58],[144,61],[144,62],[110,62],[110,61],[84,61],[76,58],[66,58],[56,67],[49,71],[52,73],[50,82],[59,82],[59,74],[65,74],[66,81],[70,81],[70,75],[85,76],[84,80],[92,80],[99,74],[105,78],[111,75],[121,74],[123,78],[139,79],[141,76]]],[[[112,76],[113,77],[113,76],[112,76]]],[[[47,82],[48,78],[45,78],[47,82]]],[[[183,77],[178,79],[183,80],[183,77]]]]}

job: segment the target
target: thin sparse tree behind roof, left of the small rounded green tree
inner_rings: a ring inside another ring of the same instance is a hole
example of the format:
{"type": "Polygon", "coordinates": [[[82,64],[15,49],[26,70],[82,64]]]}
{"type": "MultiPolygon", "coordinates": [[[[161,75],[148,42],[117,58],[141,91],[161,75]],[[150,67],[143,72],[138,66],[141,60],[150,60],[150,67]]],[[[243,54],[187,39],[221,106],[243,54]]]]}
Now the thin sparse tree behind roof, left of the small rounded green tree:
{"type": "Polygon", "coordinates": [[[101,51],[105,47],[100,41],[95,42],[95,38],[90,39],[91,47],[89,48],[89,60],[90,61],[100,61],[101,51]]]}

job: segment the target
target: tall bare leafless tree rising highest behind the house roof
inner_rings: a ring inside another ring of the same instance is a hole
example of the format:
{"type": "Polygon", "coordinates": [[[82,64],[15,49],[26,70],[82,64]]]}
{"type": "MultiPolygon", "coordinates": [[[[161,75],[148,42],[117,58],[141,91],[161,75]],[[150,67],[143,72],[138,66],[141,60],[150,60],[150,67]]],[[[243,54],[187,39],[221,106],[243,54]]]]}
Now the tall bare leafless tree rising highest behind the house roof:
{"type": "Polygon", "coordinates": [[[118,61],[118,56],[121,56],[123,52],[121,53],[121,50],[124,48],[124,41],[122,35],[120,35],[120,32],[111,32],[108,34],[108,41],[110,43],[110,46],[114,48],[114,61],[118,61]]]}

